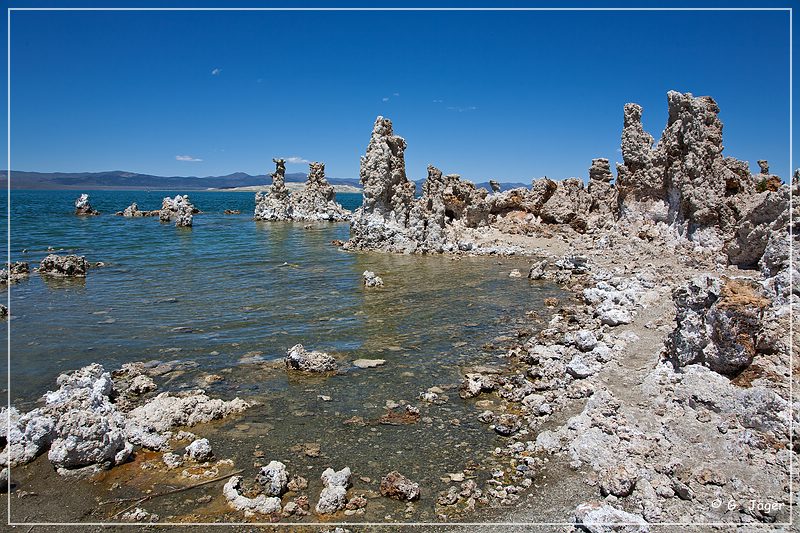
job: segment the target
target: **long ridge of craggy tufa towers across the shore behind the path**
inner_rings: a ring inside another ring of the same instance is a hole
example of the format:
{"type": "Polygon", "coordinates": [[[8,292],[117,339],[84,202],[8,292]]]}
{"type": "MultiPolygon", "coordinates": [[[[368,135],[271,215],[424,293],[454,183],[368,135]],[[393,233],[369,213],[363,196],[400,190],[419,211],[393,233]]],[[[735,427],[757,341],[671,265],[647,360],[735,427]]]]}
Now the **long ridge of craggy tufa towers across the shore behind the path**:
{"type": "MultiPolygon", "coordinates": [[[[592,160],[586,187],[578,178],[543,178],[530,189],[492,194],[430,166],[421,198],[406,177],[405,140],[378,117],[361,159],[364,202],[345,248],[493,253],[474,245],[480,231],[472,230],[484,227],[527,235],[588,232],[605,247],[624,231],[743,268],[759,268],[769,247],[770,264],[788,265],[788,188],[769,174],[766,161],[753,175],[746,162],[723,156],[712,98],[670,91],[667,103],[669,119],[656,145],[642,127],[641,106],[625,105],[616,183],[605,158],[592,160]]],[[[787,269],[775,290],[788,291],[787,269]]]]}

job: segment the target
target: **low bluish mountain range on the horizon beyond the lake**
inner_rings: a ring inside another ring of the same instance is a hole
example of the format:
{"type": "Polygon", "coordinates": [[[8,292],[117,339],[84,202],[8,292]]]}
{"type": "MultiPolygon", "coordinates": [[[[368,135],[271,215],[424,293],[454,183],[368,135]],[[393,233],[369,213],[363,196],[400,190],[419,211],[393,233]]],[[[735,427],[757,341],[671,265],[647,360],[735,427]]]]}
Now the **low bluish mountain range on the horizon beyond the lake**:
{"type": "MultiPolygon", "coordinates": [[[[304,182],[304,172],[286,174],[287,182],[304,182]]],[[[8,176],[0,172],[0,186],[6,187],[8,176]]],[[[416,181],[417,193],[422,192],[422,183],[416,181]]],[[[356,178],[328,178],[331,185],[350,185],[361,188],[361,183],[356,178]]],[[[272,183],[272,178],[267,175],[252,176],[245,172],[234,172],[226,176],[153,176],[151,174],[138,174],[122,170],[108,172],[25,172],[11,171],[12,189],[39,189],[39,190],[205,190],[205,189],[233,189],[236,187],[267,186],[272,183]]],[[[490,189],[489,183],[478,183],[478,187],[490,189]]],[[[524,183],[502,183],[503,190],[515,187],[527,187],[524,183]]]]}

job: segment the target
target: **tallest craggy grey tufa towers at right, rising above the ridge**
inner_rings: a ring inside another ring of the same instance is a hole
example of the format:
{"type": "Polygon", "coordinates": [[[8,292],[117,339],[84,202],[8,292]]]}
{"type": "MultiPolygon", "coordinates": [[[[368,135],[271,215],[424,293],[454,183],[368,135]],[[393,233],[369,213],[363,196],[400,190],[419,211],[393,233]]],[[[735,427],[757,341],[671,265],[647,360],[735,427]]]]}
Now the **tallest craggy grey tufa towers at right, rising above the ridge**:
{"type": "Polygon", "coordinates": [[[680,237],[721,249],[746,217],[746,204],[776,203],[754,195],[780,194],[780,180],[766,175],[766,161],[762,174],[753,176],[747,163],[722,155],[722,122],[713,98],[670,91],[667,101],[669,119],[655,147],[642,128],[642,108],[625,105],[624,163],[617,167],[620,215],[666,223],[680,237]]]}

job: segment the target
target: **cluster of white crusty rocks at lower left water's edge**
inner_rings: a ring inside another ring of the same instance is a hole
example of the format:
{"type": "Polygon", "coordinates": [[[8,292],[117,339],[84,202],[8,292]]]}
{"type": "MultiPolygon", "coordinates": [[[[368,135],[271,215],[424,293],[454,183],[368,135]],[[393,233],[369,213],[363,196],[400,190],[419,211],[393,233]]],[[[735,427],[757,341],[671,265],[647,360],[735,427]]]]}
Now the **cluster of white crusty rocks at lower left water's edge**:
{"type": "MultiPolygon", "coordinates": [[[[108,468],[126,461],[134,445],[161,450],[176,426],[191,426],[223,418],[249,407],[235,398],[212,399],[202,392],[180,396],[164,393],[144,405],[124,411],[111,375],[98,364],[61,374],[58,389],[44,395],[43,407],[19,414],[11,408],[0,416],[11,416],[11,432],[0,429],[0,467],[25,464],[48,450],[48,459],[59,470],[108,468]]],[[[195,441],[187,449],[190,457],[206,460],[208,441],[195,441]]]]}

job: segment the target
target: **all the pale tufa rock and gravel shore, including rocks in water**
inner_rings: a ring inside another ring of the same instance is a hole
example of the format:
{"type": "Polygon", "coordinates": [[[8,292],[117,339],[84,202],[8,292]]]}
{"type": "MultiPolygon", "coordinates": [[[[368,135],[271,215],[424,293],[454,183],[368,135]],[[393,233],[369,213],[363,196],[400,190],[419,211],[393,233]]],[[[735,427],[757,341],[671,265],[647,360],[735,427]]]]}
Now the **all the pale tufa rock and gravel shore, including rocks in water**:
{"type": "MultiPolygon", "coordinates": [[[[453,260],[529,256],[527,276],[512,270],[511,283],[556,283],[572,294],[540,311],[551,313],[547,327],[523,328],[505,342],[502,367],[463,369],[460,397],[474,402],[477,419],[503,445],[491,452],[490,471],[449,474],[448,490],[423,496],[435,498],[439,520],[474,520],[482,509],[494,509],[509,521],[537,522],[524,500],[543,490],[543,474],[559,462],[594,495],[565,497],[570,511],[558,521],[577,528],[788,522],[797,503],[790,487],[800,481],[792,468],[800,451],[800,403],[790,393],[800,374],[787,335],[800,303],[791,284],[797,251],[789,217],[800,173],[785,185],[759,161],[759,172],[751,174],[746,162],[722,155],[713,99],[670,92],[667,100],[669,120],[655,145],[642,128],[641,107],[625,106],[623,163],[613,184],[602,158],[592,161],[586,187],[577,178],[542,178],[530,189],[505,192],[429,166],[416,197],[405,175],[406,141],[384,117],[375,121],[361,159],[364,201],[352,215],[335,203],[322,164],[312,163],[304,191],[290,196],[284,163],[275,160],[269,194],[256,195],[256,219],[349,219],[351,238],[340,243],[345,250],[453,260]]],[[[88,197],[80,200],[91,210],[88,197]]],[[[188,197],[164,202],[162,220],[191,226],[188,197]]],[[[391,291],[380,274],[364,272],[365,287],[391,291]]],[[[285,366],[288,372],[337,371],[329,354],[299,344],[285,366]]],[[[213,473],[200,474],[206,478],[231,469],[213,462],[204,439],[194,439],[184,457],[172,453],[167,432],[241,411],[242,400],[231,406],[200,391],[151,395],[142,403],[138,395],[152,393],[153,384],[136,365],[126,365],[113,382],[92,365],[60,376],[58,385],[40,411],[10,414],[6,464],[49,449],[50,461],[65,473],[96,472],[98,465],[128,460],[137,445],[163,452],[167,466],[204,464],[203,472],[213,473]],[[210,403],[216,407],[206,408],[210,403]]],[[[443,393],[436,389],[420,391],[419,403],[435,407],[443,393]]],[[[392,413],[397,423],[420,418],[410,403],[392,413]]],[[[350,476],[348,467],[322,472],[316,505],[303,493],[305,478],[278,461],[256,479],[229,476],[222,491],[231,509],[255,520],[312,512],[349,517],[368,505],[350,488],[350,476]]],[[[548,490],[557,491],[558,483],[548,490]]],[[[392,471],[380,494],[412,502],[420,487],[392,471]]],[[[144,508],[132,512],[130,520],[158,519],[144,508]]]]}

